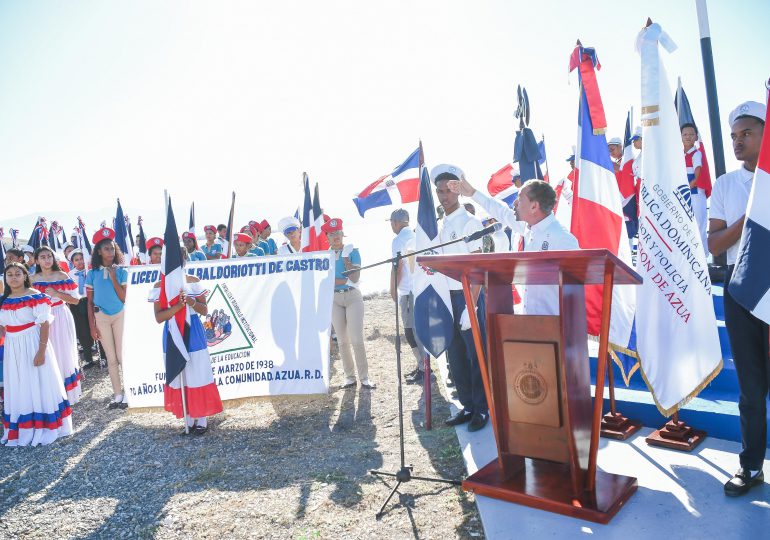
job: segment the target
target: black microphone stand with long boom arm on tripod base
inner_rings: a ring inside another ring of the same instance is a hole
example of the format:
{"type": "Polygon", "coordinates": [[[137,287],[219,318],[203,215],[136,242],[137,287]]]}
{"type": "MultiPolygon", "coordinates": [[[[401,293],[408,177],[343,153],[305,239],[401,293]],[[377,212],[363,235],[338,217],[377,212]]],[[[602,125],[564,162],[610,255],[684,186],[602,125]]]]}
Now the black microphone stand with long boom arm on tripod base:
{"type": "MultiPolygon", "coordinates": [[[[367,266],[362,266],[361,268],[356,268],[355,270],[347,270],[345,272],[342,272],[342,275],[347,276],[349,274],[352,274],[353,272],[360,272],[362,270],[368,270],[370,268],[375,268],[377,266],[382,266],[383,264],[390,264],[394,271],[398,270],[398,263],[399,261],[402,261],[403,259],[406,259],[407,257],[411,257],[414,255],[419,255],[421,253],[428,253],[433,252],[437,250],[438,248],[442,248],[444,246],[449,246],[451,244],[456,244],[458,242],[471,242],[473,240],[478,240],[479,238],[486,236],[487,234],[490,234],[492,232],[495,232],[496,230],[499,230],[499,228],[495,228],[495,226],[487,227],[486,229],[483,229],[481,231],[478,231],[474,234],[460,237],[456,240],[450,240],[449,242],[444,242],[443,244],[438,244],[436,246],[431,246],[425,249],[421,249],[419,251],[415,251],[413,253],[410,253],[408,255],[402,255],[401,252],[397,252],[395,257],[392,257],[390,259],[385,259],[367,266]],[[483,233],[483,234],[481,234],[483,233]]],[[[377,519],[382,518],[385,507],[390,502],[390,499],[393,498],[393,495],[396,494],[396,491],[398,491],[398,488],[401,487],[401,484],[405,484],[406,482],[409,482],[411,480],[422,480],[423,482],[436,482],[441,484],[449,484],[451,486],[459,486],[462,485],[462,482],[460,480],[446,480],[444,478],[430,478],[426,476],[414,476],[412,474],[412,469],[414,467],[406,466],[406,457],[405,457],[405,451],[404,451],[404,399],[403,399],[403,383],[401,382],[401,328],[400,328],[400,322],[399,322],[399,306],[398,306],[398,295],[396,296],[396,299],[394,301],[394,304],[396,306],[395,309],[395,317],[396,317],[396,377],[398,380],[398,435],[399,435],[399,449],[401,453],[401,467],[397,472],[389,472],[389,471],[382,471],[382,470],[370,470],[369,474],[374,476],[388,476],[393,477],[396,479],[396,485],[393,486],[393,489],[390,491],[390,494],[385,499],[385,502],[382,503],[382,506],[380,507],[380,510],[375,514],[375,517],[377,519]]],[[[428,374],[428,377],[430,375],[428,374]]],[[[430,379],[428,379],[428,384],[430,384],[430,379]]]]}

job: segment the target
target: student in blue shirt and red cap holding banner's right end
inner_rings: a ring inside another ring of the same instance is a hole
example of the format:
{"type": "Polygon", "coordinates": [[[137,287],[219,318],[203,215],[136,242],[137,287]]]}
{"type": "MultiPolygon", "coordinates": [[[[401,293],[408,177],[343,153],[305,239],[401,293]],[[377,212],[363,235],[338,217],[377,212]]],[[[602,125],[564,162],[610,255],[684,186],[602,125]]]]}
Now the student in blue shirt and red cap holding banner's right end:
{"type": "Polygon", "coordinates": [[[349,276],[342,274],[347,270],[360,268],[361,255],[352,244],[344,243],[341,219],[330,219],[324,223],[321,230],[326,233],[336,258],[332,324],[337,333],[342,367],[345,371],[345,384],[342,387],[352,388],[356,385],[357,371],[361,387],[371,390],[375,386],[369,380],[369,365],[364,347],[364,298],[358,290],[360,272],[349,276]]]}

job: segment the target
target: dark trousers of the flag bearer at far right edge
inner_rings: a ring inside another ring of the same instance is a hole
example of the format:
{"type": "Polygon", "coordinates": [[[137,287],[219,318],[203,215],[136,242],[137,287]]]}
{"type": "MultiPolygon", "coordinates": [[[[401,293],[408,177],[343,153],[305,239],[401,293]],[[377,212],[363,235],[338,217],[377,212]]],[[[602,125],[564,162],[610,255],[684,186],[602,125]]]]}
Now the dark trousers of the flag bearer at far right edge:
{"type": "Polygon", "coordinates": [[[738,304],[727,286],[734,266],[725,276],[725,326],[738,375],[741,415],[741,467],[760,470],[767,446],[767,397],[770,391],[768,325],[738,304]]]}

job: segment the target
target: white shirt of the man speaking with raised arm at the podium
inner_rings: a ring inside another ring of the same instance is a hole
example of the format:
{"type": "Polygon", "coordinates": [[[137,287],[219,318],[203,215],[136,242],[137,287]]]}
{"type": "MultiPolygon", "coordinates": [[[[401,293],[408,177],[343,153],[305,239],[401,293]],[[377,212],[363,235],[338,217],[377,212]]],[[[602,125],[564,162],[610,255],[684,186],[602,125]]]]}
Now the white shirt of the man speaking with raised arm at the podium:
{"type": "MultiPolygon", "coordinates": [[[[492,217],[505,223],[514,232],[524,237],[524,251],[558,251],[580,249],[577,238],[549,214],[539,223],[528,227],[523,221],[516,220],[516,214],[502,202],[488,197],[476,190],[473,200],[479,203],[492,217]]],[[[514,251],[519,246],[513,246],[514,251]]],[[[558,285],[528,285],[517,287],[521,291],[523,312],[526,315],[558,315],[558,285]]]]}

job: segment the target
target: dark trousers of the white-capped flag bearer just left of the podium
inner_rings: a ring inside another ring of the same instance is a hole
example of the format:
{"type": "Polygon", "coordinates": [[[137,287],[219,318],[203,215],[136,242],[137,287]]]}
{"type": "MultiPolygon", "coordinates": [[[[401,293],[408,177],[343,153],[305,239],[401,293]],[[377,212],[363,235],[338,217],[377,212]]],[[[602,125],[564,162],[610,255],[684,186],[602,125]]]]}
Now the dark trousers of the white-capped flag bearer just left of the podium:
{"type": "MultiPolygon", "coordinates": [[[[484,382],[481,379],[476,345],[473,343],[471,330],[460,330],[460,316],[465,310],[465,297],[462,291],[450,291],[452,313],[454,314],[454,336],[447,349],[449,371],[457,389],[457,399],[463,408],[471,413],[489,412],[487,397],[484,394],[484,382]]],[[[483,306],[479,308],[483,316],[483,306]]]]}

